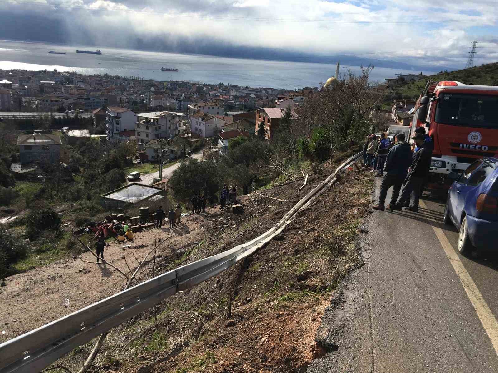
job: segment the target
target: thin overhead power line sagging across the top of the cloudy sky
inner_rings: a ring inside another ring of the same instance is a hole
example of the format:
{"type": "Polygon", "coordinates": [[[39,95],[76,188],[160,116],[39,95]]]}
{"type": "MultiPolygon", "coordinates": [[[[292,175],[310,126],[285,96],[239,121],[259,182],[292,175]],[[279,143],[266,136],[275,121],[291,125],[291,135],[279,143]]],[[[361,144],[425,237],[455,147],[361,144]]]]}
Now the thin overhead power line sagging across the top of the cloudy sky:
{"type": "MultiPolygon", "coordinates": [[[[0,2],[13,4],[8,0],[0,0],[0,2]]],[[[297,22],[297,23],[352,23],[352,24],[411,24],[411,23],[447,23],[447,22],[470,22],[474,19],[412,19],[412,20],[402,20],[402,21],[359,21],[359,20],[312,20],[312,19],[292,19],[292,18],[259,18],[259,17],[237,17],[237,16],[212,16],[212,15],[201,15],[201,14],[182,14],[182,13],[167,13],[167,12],[156,12],[156,11],[144,11],[144,10],[134,10],[134,9],[108,9],[108,8],[90,8],[82,5],[67,5],[63,3],[51,3],[43,4],[34,1],[22,1],[17,0],[15,4],[25,4],[29,6],[39,6],[46,8],[66,8],[66,9],[79,9],[87,11],[108,11],[112,13],[132,13],[132,14],[146,14],[146,15],[169,15],[172,17],[188,17],[188,18],[203,18],[203,19],[216,19],[216,20],[237,20],[237,21],[272,21],[272,22],[297,22]]]]}

